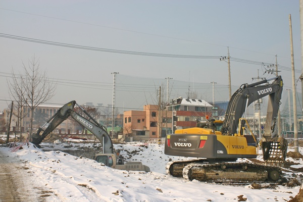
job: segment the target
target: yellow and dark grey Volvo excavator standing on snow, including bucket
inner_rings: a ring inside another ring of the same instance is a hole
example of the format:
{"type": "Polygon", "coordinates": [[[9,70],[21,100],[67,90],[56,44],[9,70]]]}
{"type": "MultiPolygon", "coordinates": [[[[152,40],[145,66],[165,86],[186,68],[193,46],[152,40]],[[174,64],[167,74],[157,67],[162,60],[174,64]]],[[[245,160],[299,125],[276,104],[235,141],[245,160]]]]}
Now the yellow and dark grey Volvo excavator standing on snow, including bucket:
{"type": "Polygon", "coordinates": [[[179,129],[166,135],[165,154],[197,159],[171,161],[166,166],[169,175],[188,180],[210,182],[278,181],[281,179],[287,153],[287,141],[276,129],[283,81],[281,76],[242,84],[229,100],[224,121],[209,119],[197,127],[179,129]],[[271,83],[269,81],[272,81],[271,83]],[[267,118],[263,138],[247,135],[247,107],[268,97],[267,118]],[[246,125],[245,125],[246,124],[246,125]],[[264,164],[239,162],[240,158],[257,158],[258,145],[263,150],[264,164]]]}

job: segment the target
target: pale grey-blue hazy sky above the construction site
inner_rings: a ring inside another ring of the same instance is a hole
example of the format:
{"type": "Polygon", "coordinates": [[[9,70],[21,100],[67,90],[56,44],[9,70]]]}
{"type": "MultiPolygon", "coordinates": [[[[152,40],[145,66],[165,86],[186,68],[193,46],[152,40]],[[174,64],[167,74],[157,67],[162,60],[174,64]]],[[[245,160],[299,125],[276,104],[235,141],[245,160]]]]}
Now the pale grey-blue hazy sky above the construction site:
{"type": "Polygon", "coordinates": [[[32,58],[57,84],[48,104],[111,105],[114,72],[120,112],[157,103],[160,86],[165,99],[195,95],[211,102],[215,92],[216,101],[227,101],[228,64],[220,57],[228,51],[232,93],[258,74],[274,77],[267,64],[275,64],[276,56],[284,89],[291,89],[289,14],[298,79],[299,1],[3,0],[0,111],[12,100],[12,70],[23,74],[32,58]]]}

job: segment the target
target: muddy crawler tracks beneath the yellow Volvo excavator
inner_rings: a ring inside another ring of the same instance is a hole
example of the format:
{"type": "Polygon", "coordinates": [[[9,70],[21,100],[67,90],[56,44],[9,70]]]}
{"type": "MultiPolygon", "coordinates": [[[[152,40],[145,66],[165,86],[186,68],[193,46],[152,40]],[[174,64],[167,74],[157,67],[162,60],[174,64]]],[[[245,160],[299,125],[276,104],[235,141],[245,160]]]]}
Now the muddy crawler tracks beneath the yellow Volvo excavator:
{"type": "Polygon", "coordinates": [[[172,161],[167,164],[166,172],[185,180],[216,183],[275,182],[282,176],[281,169],[275,166],[241,162],[212,163],[207,159],[172,161]]]}

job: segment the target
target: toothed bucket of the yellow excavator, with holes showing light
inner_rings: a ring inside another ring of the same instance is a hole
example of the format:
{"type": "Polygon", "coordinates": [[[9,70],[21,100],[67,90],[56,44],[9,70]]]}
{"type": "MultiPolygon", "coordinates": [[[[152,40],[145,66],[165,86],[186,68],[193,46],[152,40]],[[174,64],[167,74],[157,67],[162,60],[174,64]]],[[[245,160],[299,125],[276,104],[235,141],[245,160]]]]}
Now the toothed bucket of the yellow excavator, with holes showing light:
{"type": "Polygon", "coordinates": [[[285,162],[287,153],[287,140],[279,137],[277,141],[262,141],[263,160],[266,165],[281,166],[285,162]]]}

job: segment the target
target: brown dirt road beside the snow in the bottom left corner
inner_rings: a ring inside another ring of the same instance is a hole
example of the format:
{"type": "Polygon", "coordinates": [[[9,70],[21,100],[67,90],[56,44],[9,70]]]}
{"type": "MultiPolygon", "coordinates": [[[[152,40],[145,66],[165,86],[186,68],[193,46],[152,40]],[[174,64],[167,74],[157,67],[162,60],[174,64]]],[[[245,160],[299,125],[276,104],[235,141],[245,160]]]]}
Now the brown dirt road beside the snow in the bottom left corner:
{"type": "Polygon", "coordinates": [[[53,191],[34,184],[26,163],[10,158],[0,148],[0,202],[51,201],[53,191]]]}

